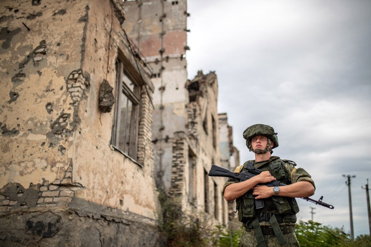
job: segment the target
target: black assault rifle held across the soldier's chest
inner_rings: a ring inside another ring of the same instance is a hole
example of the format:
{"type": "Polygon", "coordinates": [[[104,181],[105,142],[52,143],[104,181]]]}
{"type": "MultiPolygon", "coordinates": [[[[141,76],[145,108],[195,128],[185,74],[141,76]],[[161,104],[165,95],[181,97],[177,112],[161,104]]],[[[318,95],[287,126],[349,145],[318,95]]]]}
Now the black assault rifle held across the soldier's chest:
{"type": "MultiPolygon", "coordinates": [[[[223,167],[220,167],[220,166],[217,166],[217,165],[213,164],[211,166],[210,171],[209,171],[209,176],[211,176],[211,177],[237,178],[238,180],[240,180],[240,182],[242,182],[242,181],[246,181],[247,179],[252,178],[252,177],[254,177],[254,176],[256,176],[256,175],[258,175],[262,172],[262,170],[260,170],[258,168],[255,168],[254,164],[252,162],[247,163],[246,169],[247,169],[247,171],[242,171],[240,173],[234,173],[233,171],[230,171],[226,168],[223,168],[223,167]]],[[[287,184],[283,184],[280,181],[276,180],[276,181],[270,181],[269,183],[265,183],[265,184],[260,183],[258,185],[265,185],[265,186],[268,186],[268,187],[275,187],[275,186],[285,186],[287,184]]],[[[309,197],[301,197],[301,199],[304,199],[306,201],[310,201],[312,203],[315,203],[315,204],[318,204],[318,205],[321,205],[321,206],[324,206],[324,207],[327,207],[327,208],[330,208],[330,209],[334,209],[334,206],[332,206],[330,204],[327,204],[327,203],[324,203],[322,201],[322,198],[323,198],[323,196],[321,196],[321,198],[319,198],[319,200],[316,201],[316,200],[313,200],[312,198],[309,198],[309,197]]],[[[255,200],[255,207],[256,207],[256,209],[263,208],[264,207],[264,201],[262,199],[255,200]]]]}

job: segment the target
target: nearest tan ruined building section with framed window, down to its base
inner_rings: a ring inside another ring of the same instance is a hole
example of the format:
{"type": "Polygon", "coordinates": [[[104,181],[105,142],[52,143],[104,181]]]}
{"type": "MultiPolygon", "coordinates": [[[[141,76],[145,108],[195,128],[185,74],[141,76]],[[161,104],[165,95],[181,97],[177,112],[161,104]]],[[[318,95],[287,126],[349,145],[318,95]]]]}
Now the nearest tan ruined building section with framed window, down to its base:
{"type": "Polygon", "coordinates": [[[155,246],[154,86],[122,1],[0,12],[0,246],[155,246]]]}

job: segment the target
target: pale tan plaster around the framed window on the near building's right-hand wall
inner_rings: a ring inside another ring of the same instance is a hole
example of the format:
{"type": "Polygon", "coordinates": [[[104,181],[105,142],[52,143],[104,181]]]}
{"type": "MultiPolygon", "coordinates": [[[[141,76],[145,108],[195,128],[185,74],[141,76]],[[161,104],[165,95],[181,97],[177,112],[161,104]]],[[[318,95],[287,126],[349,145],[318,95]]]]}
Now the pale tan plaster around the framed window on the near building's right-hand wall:
{"type": "MultiPolygon", "coordinates": [[[[73,177],[76,182],[89,189],[79,191],[77,196],[154,218],[154,213],[157,211],[157,197],[152,173],[151,145],[146,145],[143,167],[113,150],[112,146],[110,147],[110,141],[114,111],[100,113],[98,110],[97,99],[103,79],[108,81],[114,91],[116,90],[115,61],[118,54],[124,54],[132,66],[135,69],[137,67],[132,54],[128,51],[126,40],[123,39],[119,21],[115,18],[111,19],[112,10],[108,2],[96,0],[89,4],[89,8],[82,69],[93,71],[91,73],[91,98],[96,100],[84,101],[79,108],[79,116],[83,117],[81,117],[81,133],[76,133],[75,136],[73,177]],[[109,38],[110,35],[111,38],[109,38]],[[108,71],[107,59],[109,59],[108,71]],[[86,150],[91,150],[91,152],[86,150]],[[147,189],[143,190],[143,186],[147,189]]],[[[148,84],[148,91],[152,94],[154,88],[148,75],[145,71],[141,71],[141,74],[148,84]]],[[[142,102],[141,115],[151,110],[144,89],[142,89],[142,95],[147,100],[142,102]]],[[[146,121],[151,121],[151,119],[146,121]]],[[[145,141],[150,144],[151,138],[145,141]]]]}

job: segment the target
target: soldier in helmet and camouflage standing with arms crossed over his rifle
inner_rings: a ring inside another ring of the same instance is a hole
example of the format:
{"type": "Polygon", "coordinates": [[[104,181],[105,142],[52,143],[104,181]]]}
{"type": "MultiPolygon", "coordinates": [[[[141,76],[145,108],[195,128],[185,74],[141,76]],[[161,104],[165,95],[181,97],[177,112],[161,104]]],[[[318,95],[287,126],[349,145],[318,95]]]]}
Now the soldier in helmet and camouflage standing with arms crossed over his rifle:
{"type": "Polygon", "coordinates": [[[299,246],[295,235],[296,214],[299,212],[295,197],[314,194],[315,185],[311,176],[296,163],[271,156],[278,147],[277,133],[265,124],[255,124],[243,132],[246,146],[255,154],[255,160],[246,161],[264,170],[259,175],[243,182],[229,178],[223,193],[227,201],[236,200],[238,218],[245,231],[241,237],[242,247],[299,246]],[[278,180],[288,184],[280,187],[259,186],[260,183],[278,180]],[[255,197],[255,198],[254,198],[255,197]],[[263,199],[264,208],[255,208],[255,199],[263,199]]]}

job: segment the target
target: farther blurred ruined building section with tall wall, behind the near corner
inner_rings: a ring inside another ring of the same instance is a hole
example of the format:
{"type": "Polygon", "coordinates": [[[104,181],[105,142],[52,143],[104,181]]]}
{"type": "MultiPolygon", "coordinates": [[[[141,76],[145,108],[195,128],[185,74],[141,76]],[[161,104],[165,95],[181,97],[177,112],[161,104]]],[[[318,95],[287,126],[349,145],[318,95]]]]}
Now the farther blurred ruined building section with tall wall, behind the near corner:
{"type": "Polygon", "coordinates": [[[225,154],[228,157],[221,153],[216,73],[198,71],[187,80],[187,1],[125,1],[125,9],[124,29],[154,71],[152,142],[157,186],[175,198],[183,211],[198,211],[215,224],[226,224],[229,210],[221,194],[226,179],[207,175],[212,163],[227,160],[223,161],[226,167],[239,163],[239,153],[225,154]]]}

